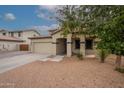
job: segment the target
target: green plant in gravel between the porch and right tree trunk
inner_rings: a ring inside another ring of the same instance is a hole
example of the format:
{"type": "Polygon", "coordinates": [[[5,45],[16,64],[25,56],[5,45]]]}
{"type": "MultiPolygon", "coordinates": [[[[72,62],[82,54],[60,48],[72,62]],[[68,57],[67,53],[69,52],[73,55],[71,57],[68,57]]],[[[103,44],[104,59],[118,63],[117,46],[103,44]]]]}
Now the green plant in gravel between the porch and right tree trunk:
{"type": "Polygon", "coordinates": [[[109,55],[109,51],[106,49],[100,49],[98,54],[99,54],[101,63],[104,63],[106,57],[109,55]]]}

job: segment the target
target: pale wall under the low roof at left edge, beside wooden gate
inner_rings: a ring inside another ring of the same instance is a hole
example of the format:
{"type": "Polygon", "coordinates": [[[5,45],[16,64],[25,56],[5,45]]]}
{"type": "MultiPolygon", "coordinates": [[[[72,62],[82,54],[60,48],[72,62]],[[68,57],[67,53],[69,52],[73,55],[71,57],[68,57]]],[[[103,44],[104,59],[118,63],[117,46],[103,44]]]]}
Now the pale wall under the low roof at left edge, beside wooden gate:
{"type": "Polygon", "coordinates": [[[17,51],[19,50],[18,42],[0,41],[0,51],[17,51]]]}

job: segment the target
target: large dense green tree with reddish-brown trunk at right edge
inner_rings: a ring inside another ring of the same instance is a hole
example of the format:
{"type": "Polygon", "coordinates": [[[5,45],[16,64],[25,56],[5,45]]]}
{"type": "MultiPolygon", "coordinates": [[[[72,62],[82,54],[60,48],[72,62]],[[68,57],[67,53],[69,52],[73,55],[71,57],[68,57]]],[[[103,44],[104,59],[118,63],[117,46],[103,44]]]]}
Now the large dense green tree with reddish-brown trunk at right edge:
{"type": "MultiPolygon", "coordinates": [[[[84,6],[89,10],[88,28],[100,39],[98,48],[116,54],[116,68],[124,55],[124,6],[84,6]]],[[[85,22],[86,23],[86,22],[85,22]]]]}

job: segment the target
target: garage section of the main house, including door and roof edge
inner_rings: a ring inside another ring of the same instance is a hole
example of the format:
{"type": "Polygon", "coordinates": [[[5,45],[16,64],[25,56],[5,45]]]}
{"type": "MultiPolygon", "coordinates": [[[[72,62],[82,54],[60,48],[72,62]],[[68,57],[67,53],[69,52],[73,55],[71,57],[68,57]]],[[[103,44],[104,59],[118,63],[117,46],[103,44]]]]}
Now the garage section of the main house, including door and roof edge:
{"type": "Polygon", "coordinates": [[[32,51],[41,54],[52,54],[52,38],[51,37],[37,37],[31,38],[32,51]]]}

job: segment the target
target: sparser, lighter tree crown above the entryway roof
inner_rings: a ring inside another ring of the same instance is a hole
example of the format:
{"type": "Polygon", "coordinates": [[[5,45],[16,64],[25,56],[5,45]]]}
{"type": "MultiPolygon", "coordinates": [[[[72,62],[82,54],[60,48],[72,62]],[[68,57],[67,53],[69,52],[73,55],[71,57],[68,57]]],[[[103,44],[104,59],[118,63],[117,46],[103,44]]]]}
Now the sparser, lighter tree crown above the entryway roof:
{"type": "Polygon", "coordinates": [[[88,23],[88,10],[83,11],[83,6],[78,5],[67,5],[59,8],[57,13],[58,20],[61,30],[63,30],[63,35],[68,35],[70,33],[78,32],[80,35],[87,34],[89,29],[86,25],[88,23]],[[84,29],[85,28],[85,29],[84,29]],[[87,29],[86,29],[87,28],[87,29]]]}

